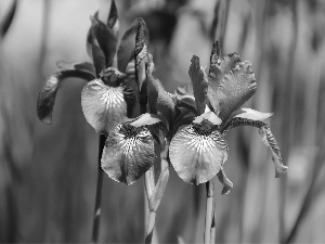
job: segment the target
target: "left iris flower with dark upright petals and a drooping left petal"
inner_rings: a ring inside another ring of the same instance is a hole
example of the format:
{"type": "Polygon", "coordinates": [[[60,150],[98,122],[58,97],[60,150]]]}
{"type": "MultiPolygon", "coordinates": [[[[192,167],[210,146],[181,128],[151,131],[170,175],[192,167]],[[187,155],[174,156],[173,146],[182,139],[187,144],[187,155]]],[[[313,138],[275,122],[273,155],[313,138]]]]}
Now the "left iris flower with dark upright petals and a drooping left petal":
{"type": "Polygon", "coordinates": [[[139,20],[125,33],[117,48],[119,21],[115,1],[112,1],[106,23],[91,16],[87,37],[89,62],[58,62],[62,70],[50,76],[40,90],[37,114],[44,124],[51,124],[55,95],[68,78],[87,80],[81,92],[81,105],[87,121],[98,133],[108,134],[115,126],[131,114],[134,92],[134,48],[139,20]],[[114,67],[114,59],[117,67],[114,67]],[[129,106],[128,106],[129,105],[129,106]]]}

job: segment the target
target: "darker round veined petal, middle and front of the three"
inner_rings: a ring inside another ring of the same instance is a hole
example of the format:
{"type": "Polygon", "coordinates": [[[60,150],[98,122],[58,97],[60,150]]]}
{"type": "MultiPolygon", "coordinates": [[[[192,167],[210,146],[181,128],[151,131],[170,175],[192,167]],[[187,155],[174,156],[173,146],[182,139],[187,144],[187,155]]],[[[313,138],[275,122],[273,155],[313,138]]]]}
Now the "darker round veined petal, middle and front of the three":
{"type": "Polygon", "coordinates": [[[150,130],[123,123],[107,137],[102,168],[113,180],[129,185],[152,167],[154,157],[150,130]]]}

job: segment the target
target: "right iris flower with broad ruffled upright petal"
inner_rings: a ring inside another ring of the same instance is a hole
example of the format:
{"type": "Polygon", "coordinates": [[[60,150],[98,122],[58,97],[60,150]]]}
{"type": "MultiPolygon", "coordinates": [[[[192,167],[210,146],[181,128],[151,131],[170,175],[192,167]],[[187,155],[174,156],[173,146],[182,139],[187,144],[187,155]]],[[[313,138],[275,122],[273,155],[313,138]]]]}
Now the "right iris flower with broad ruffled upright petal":
{"type": "Polygon", "coordinates": [[[287,171],[278,145],[264,119],[273,114],[251,108],[239,108],[257,90],[257,81],[248,61],[242,62],[237,53],[221,55],[218,41],[213,44],[209,75],[193,56],[190,76],[195,97],[195,119],[178,131],[170,143],[170,162],[179,177],[188,183],[204,183],[218,175],[227,193],[232,182],[223,165],[229,146],[224,139],[229,129],[252,126],[272,153],[275,177],[287,171]]]}

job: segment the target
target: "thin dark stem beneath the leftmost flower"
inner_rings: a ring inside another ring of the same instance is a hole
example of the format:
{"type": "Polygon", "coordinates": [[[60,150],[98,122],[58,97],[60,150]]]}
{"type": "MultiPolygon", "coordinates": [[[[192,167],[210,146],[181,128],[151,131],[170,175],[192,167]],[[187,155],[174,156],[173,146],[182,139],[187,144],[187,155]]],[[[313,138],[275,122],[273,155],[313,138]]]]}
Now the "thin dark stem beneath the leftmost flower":
{"type": "Polygon", "coordinates": [[[98,243],[100,235],[100,220],[101,220],[101,202],[102,202],[102,188],[103,188],[103,170],[101,167],[102,153],[105,146],[105,134],[100,134],[99,137],[99,171],[98,171],[98,185],[96,185],[96,196],[95,196],[95,207],[93,214],[93,224],[92,224],[92,235],[91,242],[98,243]]]}

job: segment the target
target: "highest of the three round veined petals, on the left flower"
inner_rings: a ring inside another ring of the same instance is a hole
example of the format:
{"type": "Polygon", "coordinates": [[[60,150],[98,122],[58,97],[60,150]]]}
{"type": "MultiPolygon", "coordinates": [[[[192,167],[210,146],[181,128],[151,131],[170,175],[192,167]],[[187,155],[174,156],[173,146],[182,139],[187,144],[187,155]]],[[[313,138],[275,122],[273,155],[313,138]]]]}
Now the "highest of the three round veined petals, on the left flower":
{"type": "Polygon", "coordinates": [[[81,106],[87,121],[98,133],[109,133],[127,116],[122,86],[109,87],[102,79],[84,86],[81,106]]]}

